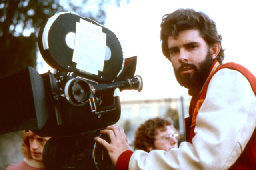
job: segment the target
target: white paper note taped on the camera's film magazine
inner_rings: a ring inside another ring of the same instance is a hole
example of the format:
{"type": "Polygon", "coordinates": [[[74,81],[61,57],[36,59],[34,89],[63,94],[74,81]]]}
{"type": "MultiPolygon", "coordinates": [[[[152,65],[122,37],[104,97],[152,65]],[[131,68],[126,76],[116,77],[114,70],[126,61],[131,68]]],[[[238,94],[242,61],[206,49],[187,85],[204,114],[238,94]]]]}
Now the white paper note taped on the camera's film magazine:
{"type": "Polygon", "coordinates": [[[80,23],[76,22],[72,61],[78,63],[79,69],[92,74],[102,71],[105,52],[106,34],[102,32],[102,27],[82,19],[80,19],[80,23]]]}

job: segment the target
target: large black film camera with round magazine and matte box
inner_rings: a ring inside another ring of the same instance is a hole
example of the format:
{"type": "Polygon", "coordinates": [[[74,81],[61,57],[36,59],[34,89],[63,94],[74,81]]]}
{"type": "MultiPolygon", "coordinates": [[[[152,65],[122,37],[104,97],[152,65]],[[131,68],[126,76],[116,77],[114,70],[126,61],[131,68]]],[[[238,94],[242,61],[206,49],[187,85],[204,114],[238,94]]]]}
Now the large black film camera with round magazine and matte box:
{"type": "Polygon", "coordinates": [[[123,58],[113,32],[70,12],[41,27],[38,46],[54,72],[28,67],[0,79],[0,134],[31,130],[51,136],[43,150],[47,170],[115,169],[94,141],[120,118],[119,92],[142,90],[136,56],[123,58]]]}

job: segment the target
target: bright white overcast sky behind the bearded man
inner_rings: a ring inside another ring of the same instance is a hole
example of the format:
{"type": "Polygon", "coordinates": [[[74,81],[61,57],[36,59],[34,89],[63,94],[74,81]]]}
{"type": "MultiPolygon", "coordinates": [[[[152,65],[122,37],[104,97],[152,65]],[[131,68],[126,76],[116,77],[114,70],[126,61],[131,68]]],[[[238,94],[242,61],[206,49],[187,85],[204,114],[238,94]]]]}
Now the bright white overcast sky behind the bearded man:
{"type": "MultiPolygon", "coordinates": [[[[142,77],[143,89],[120,92],[121,100],[189,98],[173,73],[171,63],[162,54],[160,24],[162,16],[178,8],[202,11],[216,22],[222,35],[226,62],[237,62],[256,75],[256,0],[130,0],[120,8],[109,6],[106,28],[116,34],[124,58],[137,56],[135,74],[142,77]]],[[[42,60],[42,59],[39,59],[42,60]]],[[[39,69],[39,73],[48,68],[39,69]]]]}

